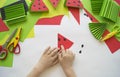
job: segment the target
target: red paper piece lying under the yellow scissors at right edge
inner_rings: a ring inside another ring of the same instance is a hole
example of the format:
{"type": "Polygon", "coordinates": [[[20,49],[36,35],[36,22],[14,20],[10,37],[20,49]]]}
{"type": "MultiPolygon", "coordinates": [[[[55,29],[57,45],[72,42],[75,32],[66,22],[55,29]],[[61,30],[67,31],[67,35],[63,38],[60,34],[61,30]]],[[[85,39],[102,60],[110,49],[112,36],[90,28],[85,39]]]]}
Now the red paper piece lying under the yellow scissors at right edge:
{"type": "MultiPolygon", "coordinates": [[[[108,33],[109,31],[106,30],[103,36],[107,35],[108,33]]],[[[120,42],[115,37],[106,40],[105,43],[107,44],[112,54],[120,49],[120,42]]]]}

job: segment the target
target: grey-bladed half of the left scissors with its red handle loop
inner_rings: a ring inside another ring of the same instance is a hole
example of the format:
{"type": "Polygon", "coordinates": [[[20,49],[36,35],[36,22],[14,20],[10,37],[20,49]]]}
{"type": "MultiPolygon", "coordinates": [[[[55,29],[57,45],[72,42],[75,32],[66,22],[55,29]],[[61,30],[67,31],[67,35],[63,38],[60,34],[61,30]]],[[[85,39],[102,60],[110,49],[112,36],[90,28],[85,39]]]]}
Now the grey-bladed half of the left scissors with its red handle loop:
{"type": "Polygon", "coordinates": [[[6,40],[6,42],[3,45],[0,45],[0,60],[4,60],[7,57],[7,46],[14,37],[15,33],[17,32],[17,29],[13,31],[13,33],[9,36],[9,38],[6,40]]]}

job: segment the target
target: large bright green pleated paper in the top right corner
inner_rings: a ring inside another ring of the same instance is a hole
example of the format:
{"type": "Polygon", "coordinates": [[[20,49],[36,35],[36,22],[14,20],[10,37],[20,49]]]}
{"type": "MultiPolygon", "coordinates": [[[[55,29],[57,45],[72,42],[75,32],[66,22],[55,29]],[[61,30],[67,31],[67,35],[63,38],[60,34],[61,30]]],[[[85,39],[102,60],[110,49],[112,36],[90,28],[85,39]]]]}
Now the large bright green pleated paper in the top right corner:
{"type": "Polygon", "coordinates": [[[113,22],[117,22],[119,6],[113,0],[104,0],[100,11],[100,16],[113,22]]]}

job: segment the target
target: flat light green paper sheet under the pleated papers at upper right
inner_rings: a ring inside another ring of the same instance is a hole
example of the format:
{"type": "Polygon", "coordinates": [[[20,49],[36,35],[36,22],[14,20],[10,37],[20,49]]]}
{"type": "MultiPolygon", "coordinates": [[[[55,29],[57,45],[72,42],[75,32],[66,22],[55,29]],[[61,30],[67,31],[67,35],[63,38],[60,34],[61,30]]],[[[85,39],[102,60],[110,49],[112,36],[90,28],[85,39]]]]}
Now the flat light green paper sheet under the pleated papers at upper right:
{"type": "MultiPolygon", "coordinates": [[[[117,22],[116,23],[113,23],[113,22],[110,22],[106,19],[104,19],[103,17],[100,17],[99,15],[96,15],[96,14],[93,14],[92,13],[92,8],[91,8],[91,1],[90,0],[82,0],[82,4],[84,6],[84,8],[89,11],[99,22],[101,23],[107,23],[107,30],[108,31],[112,31],[113,29],[113,26],[115,24],[117,24],[118,26],[120,26],[120,17],[118,16],[118,19],[117,19],[117,22]]],[[[118,41],[120,41],[120,38],[116,37],[118,39],[118,41]]]]}

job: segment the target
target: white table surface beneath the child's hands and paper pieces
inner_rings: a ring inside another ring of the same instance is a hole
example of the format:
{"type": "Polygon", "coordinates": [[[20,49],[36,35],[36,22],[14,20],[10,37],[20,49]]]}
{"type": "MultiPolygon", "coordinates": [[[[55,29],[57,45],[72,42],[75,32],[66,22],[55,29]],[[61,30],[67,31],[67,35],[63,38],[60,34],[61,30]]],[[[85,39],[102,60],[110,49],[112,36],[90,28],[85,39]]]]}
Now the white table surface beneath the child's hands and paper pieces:
{"type": "MultiPolygon", "coordinates": [[[[70,49],[76,54],[73,67],[77,77],[120,77],[120,50],[112,54],[104,42],[97,41],[88,28],[90,19],[83,15],[84,11],[80,13],[80,25],[70,13],[63,17],[60,26],[35,26],[35,37],[20,43],[21,53],[14,55],[13,67],[0,67],[0,77],[26,77],[47,46],[57,47],[58,33],[74,42],[70,49]]],[[[41,77],[65,75],[57,64],[41,77]]]]}

